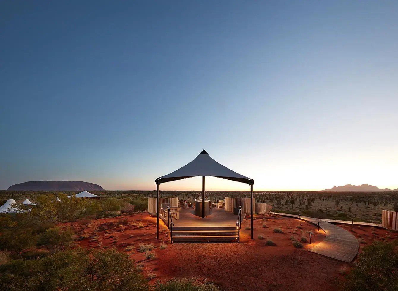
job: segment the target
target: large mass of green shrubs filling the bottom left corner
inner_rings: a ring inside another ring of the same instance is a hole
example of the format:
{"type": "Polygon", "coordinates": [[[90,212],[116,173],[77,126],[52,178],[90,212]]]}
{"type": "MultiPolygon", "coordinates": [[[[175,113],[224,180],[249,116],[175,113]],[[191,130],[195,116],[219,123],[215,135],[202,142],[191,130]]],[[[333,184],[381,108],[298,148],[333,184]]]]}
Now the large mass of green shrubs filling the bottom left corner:
{"type": "Polygon", "coordinates": [[[134,262],[117,250],[67,250],[0,266],[0,290],[148,290],[134,262]]]}

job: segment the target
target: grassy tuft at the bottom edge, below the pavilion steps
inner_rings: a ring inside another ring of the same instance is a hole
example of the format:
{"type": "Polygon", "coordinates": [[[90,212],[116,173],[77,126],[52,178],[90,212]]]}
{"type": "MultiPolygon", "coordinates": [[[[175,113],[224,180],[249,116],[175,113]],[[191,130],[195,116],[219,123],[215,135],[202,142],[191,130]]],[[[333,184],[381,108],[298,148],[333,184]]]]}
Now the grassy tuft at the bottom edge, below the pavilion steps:
{"type": "Polygon", "coordinates": [[[199,278],[174,278],[155,287],[156,291],[219,291],[214,284],[199,278]]]}

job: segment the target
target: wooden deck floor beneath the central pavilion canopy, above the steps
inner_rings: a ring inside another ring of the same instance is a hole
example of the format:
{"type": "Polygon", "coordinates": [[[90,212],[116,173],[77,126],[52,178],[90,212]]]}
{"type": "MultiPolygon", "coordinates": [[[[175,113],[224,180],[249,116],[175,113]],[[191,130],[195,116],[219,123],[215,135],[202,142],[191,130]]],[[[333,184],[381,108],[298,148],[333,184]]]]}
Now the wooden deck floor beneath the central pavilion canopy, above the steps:
{"type": "MultiPolygon", "coordinates": [[[[193,208],[179,208],[179,219],[173,218],[174,227],[234,227],[238,221],[238,215],[226,212],[225,208],[213,208],[211,214],[205,218],[197,217],[193,208]]],[[[246,213],[242,213],[242,221],[246,213]]],[[[167,218],[162,220],[168,225],[167,218]]]]}

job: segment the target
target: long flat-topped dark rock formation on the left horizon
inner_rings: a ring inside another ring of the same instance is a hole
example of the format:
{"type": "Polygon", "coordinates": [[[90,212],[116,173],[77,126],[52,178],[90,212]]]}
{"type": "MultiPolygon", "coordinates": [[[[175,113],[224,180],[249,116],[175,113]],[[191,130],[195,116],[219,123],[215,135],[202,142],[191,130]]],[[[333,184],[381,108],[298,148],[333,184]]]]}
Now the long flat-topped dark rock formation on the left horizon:
{"type": "Polygon", "coordinates": [[[9,191],[104,191],[93,183],[83,181],[29,181],[8,187],[9,191]]]}

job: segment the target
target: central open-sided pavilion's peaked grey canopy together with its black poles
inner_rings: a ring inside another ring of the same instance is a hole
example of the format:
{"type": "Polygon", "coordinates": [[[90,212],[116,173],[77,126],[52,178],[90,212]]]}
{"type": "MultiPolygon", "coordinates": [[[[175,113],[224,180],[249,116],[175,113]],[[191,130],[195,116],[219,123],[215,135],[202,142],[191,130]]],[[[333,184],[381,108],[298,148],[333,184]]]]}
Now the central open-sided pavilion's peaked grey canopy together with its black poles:
{"type": "MultiPolygon", "coordinates": [[[[236,182],[246,183],[250,185],[250,197],[251,197],[251,237],[253,239],[253,184],[254,180],[238,174],[226,166],[223,166],[219,162],[216,162],[209,156],[209,154],[202,150],[201,153],[191,162],[186,164],[185,166],[167,174],[166,176],[159,177],[155,180],[156,184],[156,192],[157,192],[157,200],[159,201],[159,185],[166,182],[202,176],[202,199],[205,201],[205,176],[213,176],[217,178],[232,180],[236,182]]],[[[159,203],[159,202],[157,202],[159,203]]],[[[202,218],[205,218],[205,203],[202,203],[202,218]]],[[[159,211],[159,207],[156,207],[157,211],[159,211]]],[[[159,238],[159,213],[157,213],[156,218],[157,225],[157,235],[156,238],[159,238]]]]}

